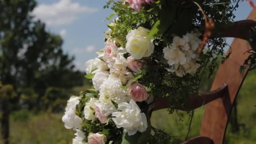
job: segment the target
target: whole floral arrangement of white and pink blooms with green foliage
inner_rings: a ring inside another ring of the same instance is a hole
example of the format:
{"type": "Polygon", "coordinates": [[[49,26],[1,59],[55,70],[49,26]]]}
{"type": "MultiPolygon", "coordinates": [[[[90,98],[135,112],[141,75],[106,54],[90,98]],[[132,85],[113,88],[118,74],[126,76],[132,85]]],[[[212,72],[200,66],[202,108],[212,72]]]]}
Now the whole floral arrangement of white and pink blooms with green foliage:
{"type": "Polygon", "coordinates": [[[85,63],[93,88],[72,96],[62,117],[76,131],[73,144],[173,140],[150,123],[155,101],[168,97],[173,113],[198,94],[202,76],[211,75],[227,45],[210,39],[232,22],[237,5],[226,1],[109,0],[104,8],[115,13],[107,19],[118,17],[108,24],[105,48],[85,63]]]}

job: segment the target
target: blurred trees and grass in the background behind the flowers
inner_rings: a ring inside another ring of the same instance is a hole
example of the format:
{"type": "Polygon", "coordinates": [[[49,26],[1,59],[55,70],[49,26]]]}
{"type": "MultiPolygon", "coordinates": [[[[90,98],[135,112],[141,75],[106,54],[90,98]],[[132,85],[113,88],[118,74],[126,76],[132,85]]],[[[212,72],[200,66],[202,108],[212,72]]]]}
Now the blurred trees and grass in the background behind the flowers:
{"type": "MultiPolygon", "coordinates": [[[[85,73],[74,69],[74,57],[63,52],[61,37],[29,15],[35,6],[34,0],[0,0],[0,144],[3,137],[9,137],[10,144],[70,144],[74,131],[61,122],[67,99],[91,87],[85,73]]],[[[201,92],[209,91],[213,78],[203,78],[201,92]]],[[[249,72],[232,111],[225,144],[256,143],[255,79],[256,71],[249,72]]],[[[186,137],[189,116],[177,113],[153,112],[152,125],[180,143],[186,137]]],[[[203,114],[204,107],[195,110],[189,138],[199,135],[203,114]]]]}

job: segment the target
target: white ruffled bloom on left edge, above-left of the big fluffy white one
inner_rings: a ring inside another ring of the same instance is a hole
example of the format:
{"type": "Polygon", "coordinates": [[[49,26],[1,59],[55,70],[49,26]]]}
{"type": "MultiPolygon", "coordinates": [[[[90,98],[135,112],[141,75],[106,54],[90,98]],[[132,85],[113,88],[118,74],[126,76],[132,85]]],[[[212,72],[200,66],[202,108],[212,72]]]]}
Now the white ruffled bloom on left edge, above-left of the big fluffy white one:
{"type": "Polygon", "coordinates": [[[98,71],[95,73],[95,75],[93,76],[93,86],[94,88],[99,91],[100,90],[100,86],[101,84],[107,80],[109,76],[109,72],[108,71],[98,71]]]}

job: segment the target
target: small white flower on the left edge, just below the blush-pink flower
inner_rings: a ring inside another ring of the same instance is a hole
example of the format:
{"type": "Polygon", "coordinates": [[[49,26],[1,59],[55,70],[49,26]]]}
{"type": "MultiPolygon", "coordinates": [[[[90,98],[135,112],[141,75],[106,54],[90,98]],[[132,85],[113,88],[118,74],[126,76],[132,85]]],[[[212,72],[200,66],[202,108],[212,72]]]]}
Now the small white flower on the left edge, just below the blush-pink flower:
{"type": "Polygon", "coordinates": [[[99,69],[99,70],[107,70],[108,69],[107,63],[105,63],[104,61],[102,61],[99,58],[95,58],[95,59],[86,61],[85,66],[86,66],[85,72],[87,74],[89,74],[91,72],[96,73],[96,71],[95,71],[96,69],[99,69]]]}

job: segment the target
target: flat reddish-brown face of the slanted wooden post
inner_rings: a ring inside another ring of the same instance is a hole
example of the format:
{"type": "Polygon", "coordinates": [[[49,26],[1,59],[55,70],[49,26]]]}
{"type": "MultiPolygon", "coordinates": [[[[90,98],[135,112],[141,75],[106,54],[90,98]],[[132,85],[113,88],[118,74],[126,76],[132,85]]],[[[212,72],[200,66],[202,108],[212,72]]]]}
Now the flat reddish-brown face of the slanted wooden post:
{"type": "MultiPolygon", "coordinates": [[[[253,9],[247,19],[256,20],[255,17],[256,9],[253,9]]],[[[224,83],[228,85],[228,91],[223,98],[210,102],[205,108],[200,136],[212,139],[214,144],[222,144],[224,141],[229,114],[247,74],[247,69],[242,73],[239,72],[239,69],[248,58],[249,53],[245,52],[249,49],[251,47],[247,41],[235,38],[228,51],[228,53],[231,52],[229,58],[221,64],[213,81],[211,90],[219,88],[224,83]]]]}

